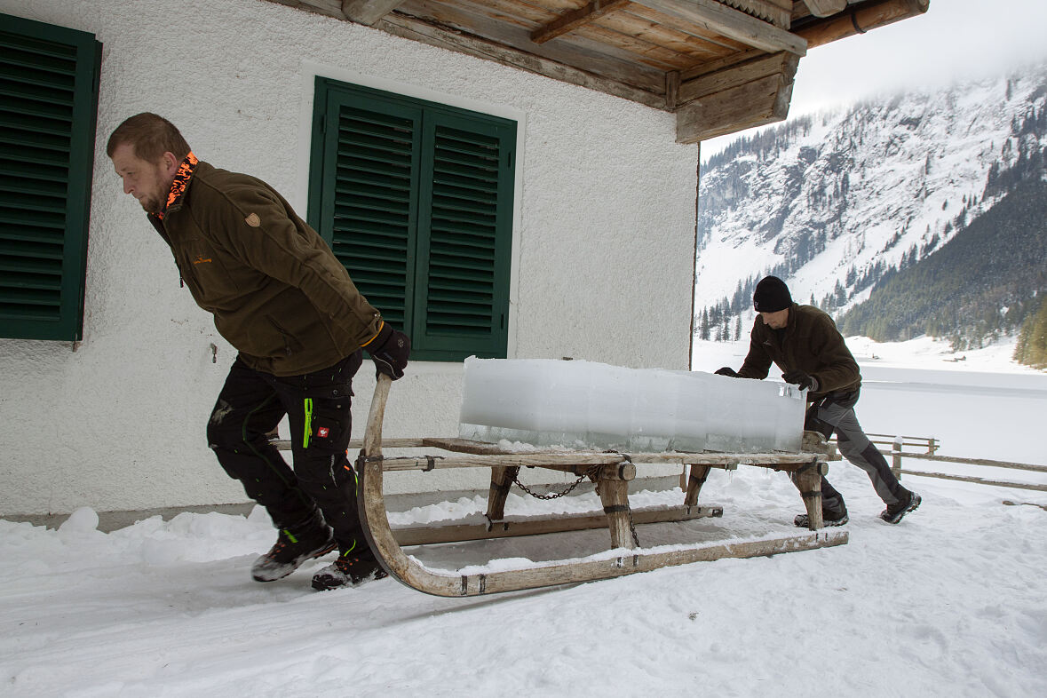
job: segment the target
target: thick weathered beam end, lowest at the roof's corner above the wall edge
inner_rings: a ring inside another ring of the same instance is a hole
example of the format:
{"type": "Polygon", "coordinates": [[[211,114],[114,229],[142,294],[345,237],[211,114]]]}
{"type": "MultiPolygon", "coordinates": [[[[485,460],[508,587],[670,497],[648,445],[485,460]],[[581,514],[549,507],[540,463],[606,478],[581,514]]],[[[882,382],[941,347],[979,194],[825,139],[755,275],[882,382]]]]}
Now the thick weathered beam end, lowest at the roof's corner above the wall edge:
{"type": "Polygon", "coordinates": [[[767,75],[695,99],[676,110],[676,142],[696,143],[788,116],[793,81],[767,75]]]}

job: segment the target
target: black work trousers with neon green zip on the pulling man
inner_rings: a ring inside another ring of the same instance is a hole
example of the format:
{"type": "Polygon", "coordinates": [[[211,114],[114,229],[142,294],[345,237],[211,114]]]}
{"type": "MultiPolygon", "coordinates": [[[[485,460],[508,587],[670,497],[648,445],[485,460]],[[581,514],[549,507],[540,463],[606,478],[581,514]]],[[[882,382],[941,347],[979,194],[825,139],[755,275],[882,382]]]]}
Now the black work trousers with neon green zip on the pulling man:
{"type": "Polygon", "coordinates": [[[346,457],[353,376],[361,361],[357,351],[322,370],[277,377],[238,357],[207,423],[207,443],[277,528],[308,526],[318,509],[342,553],[369,557],[356,509],[356,472],[346,457]],[[293,470],[266,436],[285,414],[293,470]]]}

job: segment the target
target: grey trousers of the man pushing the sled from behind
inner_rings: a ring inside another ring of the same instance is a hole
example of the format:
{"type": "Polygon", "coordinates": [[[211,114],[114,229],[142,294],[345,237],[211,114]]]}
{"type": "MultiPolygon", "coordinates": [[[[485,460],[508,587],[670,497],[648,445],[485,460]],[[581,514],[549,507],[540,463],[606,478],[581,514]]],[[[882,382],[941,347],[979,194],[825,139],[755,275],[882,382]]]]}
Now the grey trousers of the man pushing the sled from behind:
{"type": "MultiPolygon", "coordinates": [[[[807,409],[805,429],[820,431],[828,438],[837,434],[837,445],[840,453],[852,464],[861,468],[872,480],[872,487],[890,506],[906,499],[909,491],[901,487],[891,472],[887,459],[876,450],[876,445],[862,431],[854,414],[861,389],[848,392],[830,392],[807,409]]],[[[822,510],[828,512],[845,511],[843,496],[837,492],[829,481],[822,478],[822,510]]]]}

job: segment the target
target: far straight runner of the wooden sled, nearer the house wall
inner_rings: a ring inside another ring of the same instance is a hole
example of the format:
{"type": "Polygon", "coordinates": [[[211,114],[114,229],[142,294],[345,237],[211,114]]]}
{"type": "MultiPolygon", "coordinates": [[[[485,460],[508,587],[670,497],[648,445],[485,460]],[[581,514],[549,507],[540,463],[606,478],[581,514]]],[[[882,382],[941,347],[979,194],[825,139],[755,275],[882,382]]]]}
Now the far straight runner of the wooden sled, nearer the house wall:
{"type": "MultiPolygon", "coordinates": [[[[658,506],[632,510],[632,521],[642,523],[667,523],[690,521],[692,519],[723,516],[723,508],[706,506],[658,506]]],[[[467,540],[491,538],[515,538],[518,536],[540,536],[565,533],[567,531],[589,531],[606,528],[605,514],[567,514],[557,518],[506,518],[488,523],[462,523],[411,528],[393,528],[393,537],[401,545],[427,545],[429,543],[455,543],[467,540]]]]}

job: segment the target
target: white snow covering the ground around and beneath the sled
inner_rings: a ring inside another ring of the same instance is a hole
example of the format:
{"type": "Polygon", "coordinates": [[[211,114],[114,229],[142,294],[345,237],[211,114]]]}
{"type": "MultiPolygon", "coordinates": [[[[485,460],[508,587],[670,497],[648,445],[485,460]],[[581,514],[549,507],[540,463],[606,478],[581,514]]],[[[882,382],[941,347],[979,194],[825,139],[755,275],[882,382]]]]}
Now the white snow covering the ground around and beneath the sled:
{"type": "MultiPolygon", "coordinates": [[[[1044,464],[1047,376],[1009,365],[1005,350],[949,362],[929,347],[920,362],[913,346],[849,343],[866,374],[857,410],[867,429],[935,435],[932,412],[964,425],[974,412],[985,428],[938,434],[949,452],[992,446],[1044,464]],[[967,373],[945,380],[938,368],[967,373]],[[1034,413],[971,407],[986,399],[1034,413]],[[1000,432],[994,420],[1013,428],[1000,432]]],[[[738,367],[743,354],[743,344],[701,344],[695,368],[738,367]]],[[[1042,695],[1047,493],[907,476],[923,505],[892,526],[876,518],[883,505],[861,471],[834,464],[830,475],[850,509],[847,545],[464,600],[391,580],[313,592],[310,576],[326,561],[253,583],[250,563],[273,540],[261,510],[154,517],[110,534],[87,509],[57,531],[0,520],[0,695],[1042,695]]],[[[714,471],[703,501],[722,504],[723,517],[640,526],[641,542],[787,535],[802,509],[784,475],[753,468],[714,471]]],[[[592,494],[561,502],[513,494],[507,510],[598,506],[592,494]]],[[[391,518],[483,510],[475,497],[391,518]]],[[[411,553],[442,566],[605,545],[605,532],[587,532],[411,553]]]]}

